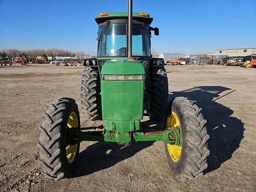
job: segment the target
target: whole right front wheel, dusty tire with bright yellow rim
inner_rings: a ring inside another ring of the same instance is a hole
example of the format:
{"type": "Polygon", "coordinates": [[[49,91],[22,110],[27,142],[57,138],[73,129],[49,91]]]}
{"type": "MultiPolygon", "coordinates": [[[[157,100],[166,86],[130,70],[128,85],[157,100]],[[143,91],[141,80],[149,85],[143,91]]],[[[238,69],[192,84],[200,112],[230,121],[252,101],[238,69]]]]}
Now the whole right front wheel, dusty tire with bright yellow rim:
{"type": "Polygon", "coordinates": [[[207,146],[209,135],[202,108],[190,98],[177,97],[171,104],[167,127],[180,126],[181,146],[164,144],[171,170],[179,177],[193,179],[203,175],[210,154],[207,146]]]}

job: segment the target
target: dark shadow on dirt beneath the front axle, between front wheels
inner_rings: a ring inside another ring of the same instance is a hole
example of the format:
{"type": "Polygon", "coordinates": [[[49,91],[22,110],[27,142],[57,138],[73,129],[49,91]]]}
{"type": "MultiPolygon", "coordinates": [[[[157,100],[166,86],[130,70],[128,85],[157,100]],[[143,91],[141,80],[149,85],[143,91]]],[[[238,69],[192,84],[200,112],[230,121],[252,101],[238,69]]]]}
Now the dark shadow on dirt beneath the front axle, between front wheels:
{"type": "Polygon", "coordinates": [[[151,146],[154,142],[134,142],[128,146],[115,142],[96,142],[79,154],[79,162],[73,177],[80,177],[110,168],[151,146]]]}

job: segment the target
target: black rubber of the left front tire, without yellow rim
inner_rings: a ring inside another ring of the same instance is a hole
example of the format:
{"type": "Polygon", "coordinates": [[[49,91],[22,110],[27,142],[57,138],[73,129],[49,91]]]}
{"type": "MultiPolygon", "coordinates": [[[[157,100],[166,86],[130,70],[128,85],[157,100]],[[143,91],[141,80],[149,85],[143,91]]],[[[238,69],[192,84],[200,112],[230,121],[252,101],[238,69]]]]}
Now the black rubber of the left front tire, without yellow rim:
{"type": "Polygon", "coordinates": [[[78,158],[77,154],[74,162],[67,163],[65,126],[70,115],[70,109],[76,110],[80,124],[78,106],[72,98],[53,99],[47,105],[46,112],[43,114],[37,146],[39,148],[38,162],[41,166],[41,173],[47,180],[57,181],[70,177],[78,158]]]}

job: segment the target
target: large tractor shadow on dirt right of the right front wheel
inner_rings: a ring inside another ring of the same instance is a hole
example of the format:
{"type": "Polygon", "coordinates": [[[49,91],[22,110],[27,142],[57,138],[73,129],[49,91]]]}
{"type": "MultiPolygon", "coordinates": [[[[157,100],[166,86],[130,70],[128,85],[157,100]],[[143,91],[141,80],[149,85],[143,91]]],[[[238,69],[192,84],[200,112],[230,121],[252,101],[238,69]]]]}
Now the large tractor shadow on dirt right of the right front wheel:
{"type": "Polygon", "coordinates": [[[203,109],[207,132],[210,135],[210,156],[204,174],[218,169],[222,163],[229,160],[244,138],[244,123],[236,117],[231,117],[233,110],[216,102],[234,91],[223,86],[198,86],[169,94],[169,100],[174,97],[190,97],[203,109]],[[224,93],[220,96],[222,92],[224,93]]]}

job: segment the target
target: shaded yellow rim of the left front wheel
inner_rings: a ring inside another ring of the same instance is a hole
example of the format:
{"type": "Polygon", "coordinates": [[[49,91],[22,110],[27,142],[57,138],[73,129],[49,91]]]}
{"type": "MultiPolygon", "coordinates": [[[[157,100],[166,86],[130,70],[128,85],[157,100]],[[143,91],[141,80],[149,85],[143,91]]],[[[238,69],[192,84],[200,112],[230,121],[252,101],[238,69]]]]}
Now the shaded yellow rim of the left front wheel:
{"type": "MultiPolygon", "coordinates": [[[[78,119],[75,112],[72,112],[68,118],[68,128],[77,128],[78,127],[78,119]]],[[[68,158],[68,162],[72,163],[76,157],[76,150],[77,150],[77,144],[75,145],[68,145],[66,147],[66,155],[68,158]]]]}

